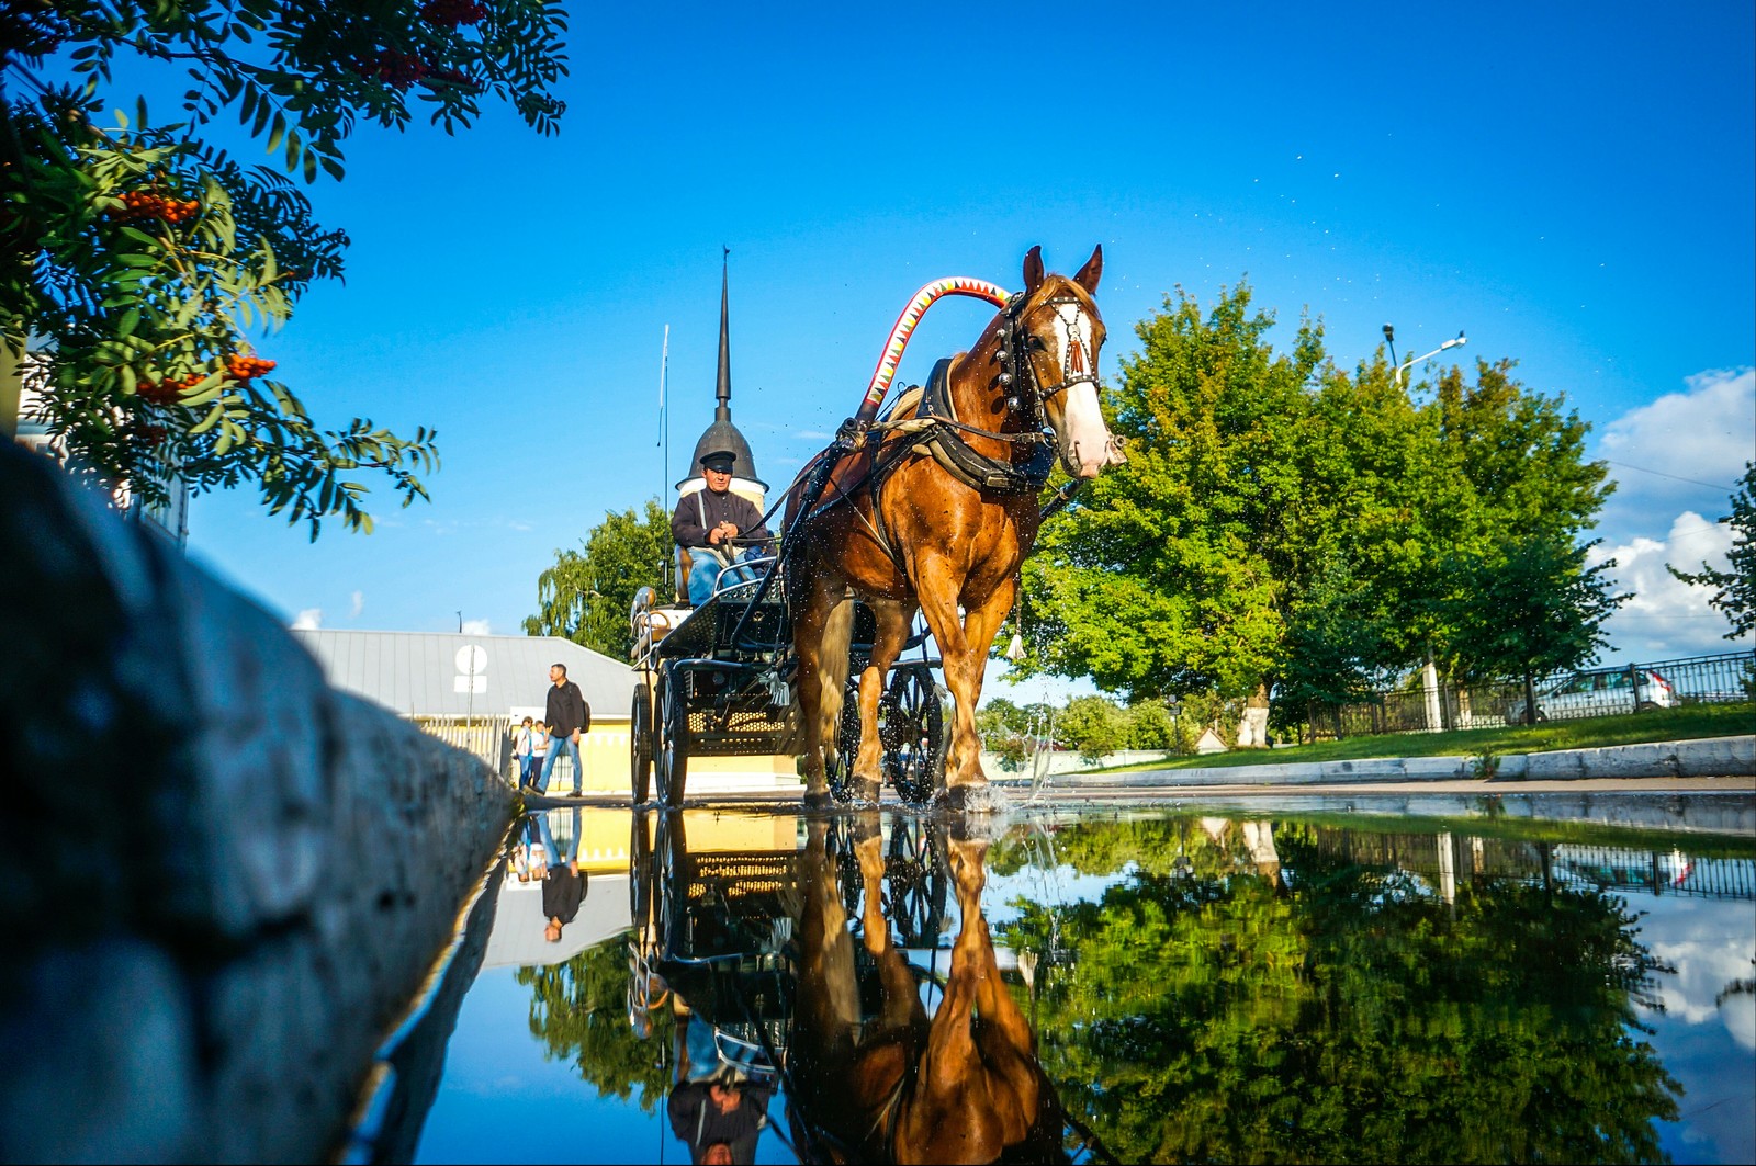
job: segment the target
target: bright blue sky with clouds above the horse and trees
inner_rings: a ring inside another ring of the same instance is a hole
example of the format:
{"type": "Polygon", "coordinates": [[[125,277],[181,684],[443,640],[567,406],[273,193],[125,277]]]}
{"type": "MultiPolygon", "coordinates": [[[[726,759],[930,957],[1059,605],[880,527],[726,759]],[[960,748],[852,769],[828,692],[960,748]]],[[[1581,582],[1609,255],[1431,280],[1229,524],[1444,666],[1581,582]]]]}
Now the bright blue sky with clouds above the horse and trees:
{"type": "MultiPolygon", "coordinates": [[[[683,474],[722,242],[734,416],[776,486],[917,286],[1103,242],[1106,371],[1168,292],[1241,277],[1343,367],[1385,321],[1401,355],[1465,328],[1465,358],[1517,358],[1619,464],[1617,651],[1731,648],[1661,564],[1723,551],[1756,444],[1747,2],[576,5],[569,40],[558,137],[367,128],[313,190],[348,283],[262,351],[318,418],[437,427],[444,469],[316,546],[251,493],[197,500],[191,553],[284,618],[516,632],[555,550],[664,485],[666,325],[683,474]]],[[[982,323],[936,307],[903,379],[982,323]]]]}

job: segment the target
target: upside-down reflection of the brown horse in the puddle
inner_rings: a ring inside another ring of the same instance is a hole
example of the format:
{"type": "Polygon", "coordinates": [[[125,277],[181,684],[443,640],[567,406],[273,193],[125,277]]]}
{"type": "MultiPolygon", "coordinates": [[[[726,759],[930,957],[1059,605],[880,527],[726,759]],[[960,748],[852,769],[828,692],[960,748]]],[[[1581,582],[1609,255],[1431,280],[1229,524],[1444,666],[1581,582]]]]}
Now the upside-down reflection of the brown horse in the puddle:
{"type": "Polygon", "coordinates": [[[946,843],[961,929],[929,1020],[917,971],[883,913],[887,862],[876,811],[853,822],[857,941],[827,832],[827,824],[810,824],[799,871],[799,996],[787,1076],[801,1155],[1068,1161],[1061,1103],[1036,1061],[1031,1026],[1001,982],[982,915],[987,843],[946,843]],[[866,1006],[871,1001],[876,1008],[866,1006]]]}

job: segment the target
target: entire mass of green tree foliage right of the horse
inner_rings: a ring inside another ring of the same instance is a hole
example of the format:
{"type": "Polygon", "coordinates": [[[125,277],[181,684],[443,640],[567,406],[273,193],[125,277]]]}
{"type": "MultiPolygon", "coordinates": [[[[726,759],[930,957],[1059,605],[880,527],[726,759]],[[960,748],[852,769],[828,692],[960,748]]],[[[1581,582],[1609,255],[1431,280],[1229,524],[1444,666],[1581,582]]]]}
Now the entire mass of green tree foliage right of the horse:
{"type": "Polygon", "coordinates": [[[1299,323],[1289,353],[1249,286],[1136,327],[1108,393],[1129,462],[1045,523],[1026,564],[1043,646],[1022,667],[1133,701],[1271,688],[1303,709],[1380,687],[1428,651],[1456,669],[1468,615],[1449,562],[1508,532],[1575,546],[1601,506],[1587,425],[1510,362],[1405,388],[1382,353],[1352,374],[1299,323]]]}

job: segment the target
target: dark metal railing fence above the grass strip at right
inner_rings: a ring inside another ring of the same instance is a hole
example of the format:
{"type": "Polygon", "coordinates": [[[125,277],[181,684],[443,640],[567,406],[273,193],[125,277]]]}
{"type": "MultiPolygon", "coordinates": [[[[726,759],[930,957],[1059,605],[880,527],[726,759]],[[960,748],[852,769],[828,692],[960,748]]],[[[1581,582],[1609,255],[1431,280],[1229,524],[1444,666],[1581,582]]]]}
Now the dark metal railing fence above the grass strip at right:
{"type": "MultiPolygon", "coordinates": [[[[1536,720],[1645,713],[1684,704],[1756,699],[1756,651],[1559,673],[1536,681],[1536,720]]],[[[1380,692],[1354,704],[1312,704],[1306,734],[1356,738],[1384,732],[1496,729],[1524,723],[1524,685],[1452,685],[1380,692]]]]}

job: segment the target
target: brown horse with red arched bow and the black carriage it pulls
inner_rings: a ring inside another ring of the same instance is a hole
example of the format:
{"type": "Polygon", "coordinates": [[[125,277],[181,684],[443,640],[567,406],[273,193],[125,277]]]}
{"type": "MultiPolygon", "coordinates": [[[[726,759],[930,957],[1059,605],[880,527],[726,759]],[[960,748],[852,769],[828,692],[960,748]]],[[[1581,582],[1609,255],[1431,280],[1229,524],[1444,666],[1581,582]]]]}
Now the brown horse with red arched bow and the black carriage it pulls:
{"type": "Polygon", "coordinates": [[[969,804],[985,783],[975,697],[1018,567],[1041,520],[1126,460],[1098,397],[1101,272],[1103,248],[1071,279],[1033,248],[1015,295],[968,277],[924,286],[855,416],[787,490],[780,551],[722,574],[694,609],[639,592],[636,804],[657,780],[660,803],[680,806],[692,757],[762,753],[802,757],[808,808],[874,803],[882,785],[969,804]],[[880,413],[910,334],[948,295],[999,313],[880,413]],[[1043,506],[1057,465],[1068,481],[1043,506]],[[927,655],[929,630],[943,660],[927,655]]]}

